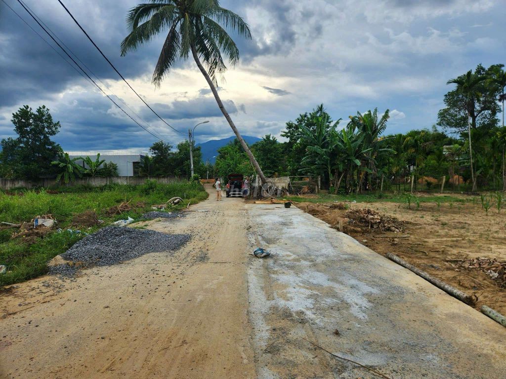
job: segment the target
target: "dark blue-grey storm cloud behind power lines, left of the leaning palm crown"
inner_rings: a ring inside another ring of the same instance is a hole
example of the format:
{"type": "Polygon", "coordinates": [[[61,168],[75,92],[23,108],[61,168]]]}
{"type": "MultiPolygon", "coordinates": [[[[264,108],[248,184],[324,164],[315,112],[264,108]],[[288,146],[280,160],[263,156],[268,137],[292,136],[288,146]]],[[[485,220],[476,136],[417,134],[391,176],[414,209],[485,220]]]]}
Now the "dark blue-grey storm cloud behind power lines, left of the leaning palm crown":
{"type": "MultiPolygon", "coordinates": [[[[125,77],[136,77],[145,74],[152,67],[153,56],[159,46],[155,41],[143,48],[143,54],[131,53],[125,58],[119,57],[119,44],[126,35],[124,16],[111,16],[126,15],[132,5],[128,3],[130,2],[101,2],[100,12],[93,12],[93,7],[75,3],[68,7],[118,70],[125,77]]],[[[15,6],[12,1],[9,5],[59,51],[57,45],[23,8],[15,6]]],[[[57,2],[46,0],[28,6],[101,79],[118,78],[57,2]]],[[[3,55],[0,60],[0,72],[3,73],[1,106],[27,101],[30,97],[51,98],[69,85],[83,80],[78,72],[3,3],[0,3],[0,37],[3,55]]],[[[63,52],[60,51],[60,54],[70,61],[63,52]]]]}

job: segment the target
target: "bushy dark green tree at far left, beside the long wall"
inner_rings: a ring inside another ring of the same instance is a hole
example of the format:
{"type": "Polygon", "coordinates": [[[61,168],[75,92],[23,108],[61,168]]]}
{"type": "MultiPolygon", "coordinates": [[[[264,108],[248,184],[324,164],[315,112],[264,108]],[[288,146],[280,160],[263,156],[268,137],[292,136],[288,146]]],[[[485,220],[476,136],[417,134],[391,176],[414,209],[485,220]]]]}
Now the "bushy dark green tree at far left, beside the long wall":
{"type": "Polygon", "coordinates": [[[0,160],[16,178],[37,179],[56,174],[51,165],[61,148],[51,140],[60,129],[54,122],[49,109],[44,105],[35,112],[25,105],[13,113],[12,123],[17,138],[2,139],[0,160]]]}

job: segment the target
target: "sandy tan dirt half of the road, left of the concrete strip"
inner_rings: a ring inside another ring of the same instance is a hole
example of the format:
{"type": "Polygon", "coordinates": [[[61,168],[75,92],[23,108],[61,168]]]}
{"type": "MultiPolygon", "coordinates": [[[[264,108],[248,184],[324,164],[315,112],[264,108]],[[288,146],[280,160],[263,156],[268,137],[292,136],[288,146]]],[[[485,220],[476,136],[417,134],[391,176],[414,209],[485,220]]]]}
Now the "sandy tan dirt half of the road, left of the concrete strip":
{"type": "Polygon", "coordinates": [[[210,196],[184,218],[137,224],[191,233],[172,256],[0,294],[0,378],[256,377],[244,215],[241,199],[210,196]]]}

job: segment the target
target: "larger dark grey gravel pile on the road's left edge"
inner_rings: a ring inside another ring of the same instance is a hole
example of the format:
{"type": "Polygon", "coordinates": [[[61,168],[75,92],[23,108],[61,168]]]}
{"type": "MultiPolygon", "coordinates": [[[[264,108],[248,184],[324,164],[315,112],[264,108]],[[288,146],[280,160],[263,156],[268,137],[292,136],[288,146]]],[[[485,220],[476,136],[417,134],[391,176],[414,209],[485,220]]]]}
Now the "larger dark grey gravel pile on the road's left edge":
{"type": "MultiPolygon", "coordinates": [[[[147,253],[177,250],[189,239],[189,234],[107,226],[75,243],[61,257],[80,267],[109,266],[147,253]]],[[[75,273],[75,267],[58,265],[51,267],[50,272],[69,276],[75,273]]]]}

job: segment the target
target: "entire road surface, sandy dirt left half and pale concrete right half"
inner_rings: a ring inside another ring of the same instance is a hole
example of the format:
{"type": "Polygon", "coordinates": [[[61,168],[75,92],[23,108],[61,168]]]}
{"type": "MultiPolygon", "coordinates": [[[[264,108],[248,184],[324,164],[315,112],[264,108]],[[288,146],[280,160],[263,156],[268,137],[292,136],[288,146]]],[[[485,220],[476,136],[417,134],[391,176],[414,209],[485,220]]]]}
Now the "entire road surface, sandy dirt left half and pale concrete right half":
{"type": "Polygon", "coordinates": [[[503,326],[300,209],[212,196],[142,225],[192,239],[0,295],[1,378],[378,377],[311,342],[395,379],[506,370],[503,326]]]}

